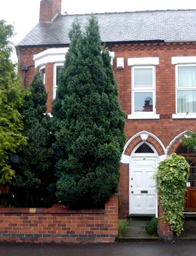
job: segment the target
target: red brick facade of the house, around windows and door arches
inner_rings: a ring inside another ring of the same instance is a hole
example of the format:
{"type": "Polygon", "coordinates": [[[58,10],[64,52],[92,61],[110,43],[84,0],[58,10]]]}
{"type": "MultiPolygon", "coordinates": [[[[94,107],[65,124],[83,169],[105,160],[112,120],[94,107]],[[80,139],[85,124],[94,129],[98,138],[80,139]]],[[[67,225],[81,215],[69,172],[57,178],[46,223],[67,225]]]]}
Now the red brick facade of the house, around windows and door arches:
{"type": "MultiPolygon", "coordinates": [[[[60,45],[61,46],[61,45],[60,45]]],[[[32,60],[34,54],[38,54],[46,48],[22,48],[20,49],[20,66],[29,66],[26,72],[26,86],[32,81],[35,72],[34,62],[32,60]],[[32,66],[31,66],[32,65],[32,66]]],[[[171,57],[174,56],[196,56],[196,42],[187,43],[143,43],[143,44],[127,44],[112,45],[110,51],[115,51],[115,60],[113,69],[115,79],[118,83],[118,94],[121,108],[126,115],[131,113],[131,67],[127,66],[127,59],[130,57],[159,57],[159,65],[156,66],[156,111],[160,114],[160,119],[152,120],[128,120],[126,119],[124,131],[127,140],[140,131],[148,131],[155,134],[164,147],[167,147],[174,137],[186,130],[196,130],[195,119],[172,119],[172,114],[176,113],[175,109],[175,65],[171,64],[171,57]],[[116,58],[124,57],[124,69],[116,68],[116,58]]],[[[50,65],[49,65],[50,66],[50,65]]],[[[48,68],[49,68],[48,66],[48,68]]],[[[51,66],[50,66],[51,69],[51,66]]],[[[52,71],[52,70],[51,70],[52,71]]],[[[20,70],[20,75],[22,72],[20,70]]],[[[53,84],[52,72],[46,74],[47,79],[47,111],[51,112],[52,88],[53,84]]],[[[130,156],[132,150],[141,142],[137,137],[127,147],[126,154],[130,156]]],[[[158,142],[152,137],[148,138],[148,142],[155,147],[158,155],[164,155],[163,149],[158,142]]],[[[180,139],[173,144],[169,153],[175,152],[180,145],[180,139]]],[[[121,194],[121,212],[128,214],[128,165],[121,165],[121,179],[119,184],[119,193],[121,194]]]]}

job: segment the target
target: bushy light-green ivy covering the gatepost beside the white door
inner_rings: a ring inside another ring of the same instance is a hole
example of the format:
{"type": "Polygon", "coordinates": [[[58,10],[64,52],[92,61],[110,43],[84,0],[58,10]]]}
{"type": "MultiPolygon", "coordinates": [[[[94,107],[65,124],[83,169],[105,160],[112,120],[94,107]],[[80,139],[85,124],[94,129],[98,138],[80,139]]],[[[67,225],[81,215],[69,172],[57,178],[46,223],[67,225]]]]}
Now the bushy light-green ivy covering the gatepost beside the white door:
{"type": "Polygon", "coordinates": [[[183,230],[185,205],[185,184],[188,181],[189,165],[183,156],[172,153],[160,162],[154,175],[158,179],[158,194],[164,208],[164,219],[171,230],[179,236],[183,230]]]}

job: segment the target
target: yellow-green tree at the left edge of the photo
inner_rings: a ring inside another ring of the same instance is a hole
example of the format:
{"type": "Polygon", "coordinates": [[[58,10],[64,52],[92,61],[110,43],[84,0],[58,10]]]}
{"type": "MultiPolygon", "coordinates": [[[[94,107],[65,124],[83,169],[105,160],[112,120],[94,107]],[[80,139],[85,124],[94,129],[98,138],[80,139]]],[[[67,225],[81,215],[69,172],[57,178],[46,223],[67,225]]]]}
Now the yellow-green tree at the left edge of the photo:
{"type": "Polygon", "coordinates": [[[13,34],[13,26],[0,20],[0,184],[11,183],[14,171],[9,159],[26,143],[21,134],[23,121],[18,111],[23,103],[23,90],[10,60],[13,34]]]}

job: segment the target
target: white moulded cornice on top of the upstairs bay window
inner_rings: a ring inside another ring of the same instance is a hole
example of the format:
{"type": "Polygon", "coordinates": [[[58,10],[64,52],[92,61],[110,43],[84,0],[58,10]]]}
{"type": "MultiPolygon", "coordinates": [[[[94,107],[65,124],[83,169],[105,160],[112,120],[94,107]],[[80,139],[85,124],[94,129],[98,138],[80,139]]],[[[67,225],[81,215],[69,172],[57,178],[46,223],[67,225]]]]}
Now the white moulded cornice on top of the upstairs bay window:
{"type": "Polygon", "coordinates": [[[33,60],[35,61],[35,68],[43,66],[46,63],[63,62],[66,60],[66,53],[69,48],[50,48],[35,54],[33,60]]]}

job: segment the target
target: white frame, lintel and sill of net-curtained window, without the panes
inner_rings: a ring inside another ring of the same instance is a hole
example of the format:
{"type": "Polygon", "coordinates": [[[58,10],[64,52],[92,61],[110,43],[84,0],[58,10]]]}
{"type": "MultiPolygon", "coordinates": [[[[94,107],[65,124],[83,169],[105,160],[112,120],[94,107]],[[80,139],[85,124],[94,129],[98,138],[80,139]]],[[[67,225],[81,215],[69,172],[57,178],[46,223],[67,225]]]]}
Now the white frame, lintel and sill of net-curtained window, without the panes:
{"type": "MultiPolygon", "coordinates": [[[[176,84],[176,113],[172,115],[173,119],[196,119],[196,113],[177,113],[177,91],[178,88],[178,67],[179,66],[196,66],[196,56],[172,57],[171,63],[175,66],[175,84],[176,84]]],[[[181,88],[188,90],[188,88],[181,88]]],[[[196,90],[191,87],[190,90],[196,90]]]]}

